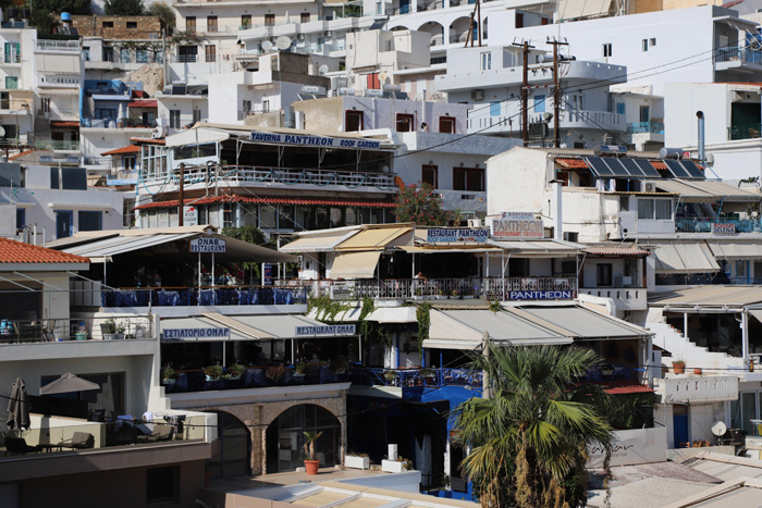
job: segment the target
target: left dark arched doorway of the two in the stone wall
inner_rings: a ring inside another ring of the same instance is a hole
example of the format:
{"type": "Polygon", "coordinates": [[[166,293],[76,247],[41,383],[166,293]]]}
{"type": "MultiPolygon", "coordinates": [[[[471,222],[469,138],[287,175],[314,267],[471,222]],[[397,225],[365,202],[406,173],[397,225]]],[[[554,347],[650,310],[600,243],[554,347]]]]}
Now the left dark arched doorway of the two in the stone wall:
{"type": "Polygon", "coordinates": [[[224,411],[217,414],[217,453],[207,460],[212,478],[251,474],[251,433],[244,422],[224,411]]]}

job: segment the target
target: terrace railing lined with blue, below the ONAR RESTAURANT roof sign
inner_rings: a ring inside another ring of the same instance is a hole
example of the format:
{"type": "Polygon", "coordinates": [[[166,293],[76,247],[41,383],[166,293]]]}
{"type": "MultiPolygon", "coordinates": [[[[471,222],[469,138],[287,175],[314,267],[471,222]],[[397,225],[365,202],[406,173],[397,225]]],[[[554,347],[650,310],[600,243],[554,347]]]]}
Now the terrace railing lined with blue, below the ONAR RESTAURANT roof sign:
{"type": "Polygon", "coordinates": [[[305,287],[131,288],[101,292],[103,307],[305,305],[305,287]]]}

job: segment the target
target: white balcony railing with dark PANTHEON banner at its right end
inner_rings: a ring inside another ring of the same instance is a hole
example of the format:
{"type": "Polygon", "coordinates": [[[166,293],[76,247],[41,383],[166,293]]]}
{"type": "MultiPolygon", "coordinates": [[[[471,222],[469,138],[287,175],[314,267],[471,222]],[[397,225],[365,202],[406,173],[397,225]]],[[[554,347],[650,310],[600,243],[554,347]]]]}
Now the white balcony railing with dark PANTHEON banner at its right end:
{"type": "MultiPolygon", "coordinates": [[[[291,282],[282,282],[290,284],[291,282]]],[[[505,278],[393,278],[385,281],[318,281],[310,293],[337,300],[373,299],[573,299],[577,296],[576,277],[505,277],[505,278]]]]}

